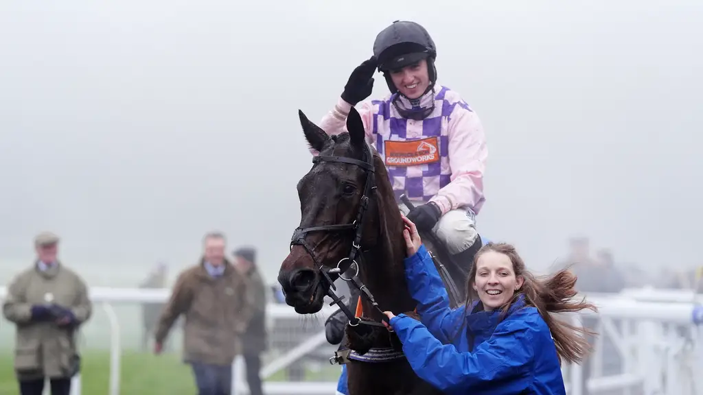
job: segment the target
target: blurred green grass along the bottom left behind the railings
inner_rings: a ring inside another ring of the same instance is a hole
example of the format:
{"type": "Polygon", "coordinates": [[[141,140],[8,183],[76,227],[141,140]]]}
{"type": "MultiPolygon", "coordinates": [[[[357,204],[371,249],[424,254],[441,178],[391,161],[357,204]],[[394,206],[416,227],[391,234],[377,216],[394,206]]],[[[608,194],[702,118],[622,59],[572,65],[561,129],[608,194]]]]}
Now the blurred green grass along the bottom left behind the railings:
{"type": "MultiPolygon", "coordinates": [[[[19,395],[13,374],[11,352],[0,356],[0,394],[19,395]]],[[[191,368],[181,362],[181,354],[153,354],[125,351],[121,363],[121,395],[193,395],[196,394],[191,368]]],[[[318,371],[307,370],[306,380],[336,381],[338,365],[323,365],[318,371]]],[[[108,351],[82,353],[82,394],[108,394],[110,354],[108,351]]],[[[286,380],[285,372],[277,372],[269,381],[286,380]]]]}

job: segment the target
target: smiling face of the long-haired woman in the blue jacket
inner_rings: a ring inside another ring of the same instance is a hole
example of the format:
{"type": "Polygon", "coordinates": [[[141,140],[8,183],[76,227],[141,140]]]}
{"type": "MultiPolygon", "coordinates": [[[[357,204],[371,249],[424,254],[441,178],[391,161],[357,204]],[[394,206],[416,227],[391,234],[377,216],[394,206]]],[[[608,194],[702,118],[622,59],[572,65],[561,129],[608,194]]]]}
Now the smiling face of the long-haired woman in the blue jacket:
{"type": "Polygon", "coordinates": [[[510,302],[515,291],[522,287],[522,282],[522,276],[515,276],[512,261],[508,255],[487,251],[476,263],[473,288],[486,311],[493,311],[510,302]]]}

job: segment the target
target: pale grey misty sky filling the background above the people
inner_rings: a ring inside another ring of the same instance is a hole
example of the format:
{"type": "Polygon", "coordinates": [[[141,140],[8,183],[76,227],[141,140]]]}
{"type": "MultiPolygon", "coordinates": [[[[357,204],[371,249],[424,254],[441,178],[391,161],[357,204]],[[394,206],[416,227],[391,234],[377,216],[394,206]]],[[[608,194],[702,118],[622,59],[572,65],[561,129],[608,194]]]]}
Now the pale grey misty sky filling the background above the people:
{"type": "Polygon", "coordinates": [[[700,1],[1,1],[2,285],[45,230],[93,286],[173,280],[211,230],[273,283],[311,167],[297,110],[319,122],[396,19],[482,120],[484,237],[538,271],[576,235],[703,264],[700,1]]]}

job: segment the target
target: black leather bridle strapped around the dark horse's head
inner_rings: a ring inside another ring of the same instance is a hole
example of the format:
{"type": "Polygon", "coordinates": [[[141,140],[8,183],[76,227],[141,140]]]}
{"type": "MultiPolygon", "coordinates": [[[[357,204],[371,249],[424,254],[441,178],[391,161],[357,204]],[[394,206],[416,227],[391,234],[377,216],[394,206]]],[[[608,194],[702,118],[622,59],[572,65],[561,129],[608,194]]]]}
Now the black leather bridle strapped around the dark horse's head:
{"type": "MultiPolygon", "coordinates": [[[[347,281],[348,283],[352,283],[355,287],[359,289],[359,291],[361,291],[363,297],[366,297],[366,299],[368,299],[372,306],[381,313],[382,320],[388,323],[388,318],[385,316],[385,314],[383,314],[383,311],[379,308],[378,303],[373,297],[373,294],[371,294],[366,285],[361,282],[361,280],[359,280],[359,264],[356,262],[357,255],[359,255],[359,249],[361,248],[363,224],[364,220],[366,219],[366,216],[364,214],[366,214],[366,210],[368,209],[370,197],[373,197],[373,190],[376,189],[375,167],[373,164],[373,150],[371,149],[370,145],[368,145],[368,142],[364,145],[363,157],[364,160],[356,160],[351,157],[341,156],[318,155],[316,157],[313,157],[312,162],[315,165],[320,164],[322,162],[337,162],[354,164],[358,167],[361,167],[361,169],[366,172],[366,185],[363,188],[363,195],[361,195],[361,200],[359,201],[359,209],[356,212],[356,219],[354,219],[354,222],[352,222],[351,224],[311,226],[309,228],[298,227],[293,232],[293,236],[290,240],[290,248],[292,249],[294,245],[300,245],[307,251],[310,257],[312,257],[315,266],[317,266],[318,270],[323,276],[323,279],[329,285],[327,294],[333,299],[333,302],[330,303],[330,306],[332,306],[333,304],[337,304],[337,306],[340,306],[340,309],[344,312],[344,315],[349,318],[350,326],[356,327],[360,323],[364,323],[366,325],[385,327],[385,325],[383,325],[382,323],[377,323],[375,321],[369,320],[361,320],[361,318],[356,317],[354,313],[352,313],[352,311],[350,311],[349,308],[342,302],[342,300],[344,300],[344,297],[337,297],[334,292],[337,290],[337,287],[335,287],[334,284],[334,280],[336,278],[342,278],[342,280],[347,281]],[[352,248],[349,251],[349,256],[340,259],[340,261],[337,262],[337,266],[335,268],[326,269],[315,257],[313,249],[311,249],[305,241],[305,236],[309,232],[337,232],[348,230],[354,231],[354,241],[352,241],[352,248]],[[347,271],[349,271],[352,266],[354,267],[355,271],[354,276],[350,276],[349,278],[344,277],[344,273],[347,273],[347,271]]],[[[360,255],[359,259],[361,259],[360,255]]]]}

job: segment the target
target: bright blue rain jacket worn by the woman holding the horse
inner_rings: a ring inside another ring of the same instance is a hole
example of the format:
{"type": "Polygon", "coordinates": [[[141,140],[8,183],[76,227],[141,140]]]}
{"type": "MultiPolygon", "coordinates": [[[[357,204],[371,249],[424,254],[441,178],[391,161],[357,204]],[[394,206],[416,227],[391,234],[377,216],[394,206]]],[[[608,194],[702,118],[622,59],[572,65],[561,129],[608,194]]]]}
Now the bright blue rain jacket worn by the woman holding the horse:
{"type": "Polygon", "coordinates": [[[447,394],[566,394],[550,330],[523,295],[502,319],[480,302],[451,310],[424,245],[405,271],[422,323],[399,314],[390,324],[420,378],[447,394]]]}

